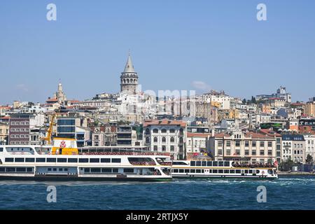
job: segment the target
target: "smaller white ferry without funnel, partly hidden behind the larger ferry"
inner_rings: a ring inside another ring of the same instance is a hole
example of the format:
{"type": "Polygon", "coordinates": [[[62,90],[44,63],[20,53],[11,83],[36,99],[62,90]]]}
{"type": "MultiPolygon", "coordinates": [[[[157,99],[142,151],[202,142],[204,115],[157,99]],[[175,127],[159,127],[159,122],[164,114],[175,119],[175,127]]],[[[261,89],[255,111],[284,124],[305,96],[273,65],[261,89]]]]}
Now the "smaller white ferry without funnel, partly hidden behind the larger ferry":
{"type": "Polygon", "coordinates": [[[274,165],[239,165],[234,161],[173,161],[173,178],[276,179],[274,165]]]}

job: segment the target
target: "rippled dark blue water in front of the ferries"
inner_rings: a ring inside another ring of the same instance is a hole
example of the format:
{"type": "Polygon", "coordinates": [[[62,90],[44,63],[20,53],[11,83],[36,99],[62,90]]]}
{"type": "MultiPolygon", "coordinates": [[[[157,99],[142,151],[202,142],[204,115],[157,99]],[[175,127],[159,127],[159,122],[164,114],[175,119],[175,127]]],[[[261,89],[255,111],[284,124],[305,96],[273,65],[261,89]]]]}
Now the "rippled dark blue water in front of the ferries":
{"type": "Polygon", "coordinates": [[[259,180],[173,180],[160,183],[0,181],[0,209],[315,209],[315,176],[259,180]],[[47,186],[57,202],[48,203],[47,186]],[[257,187],[267,202],[257,202],[257,187]]]}

